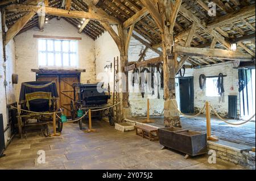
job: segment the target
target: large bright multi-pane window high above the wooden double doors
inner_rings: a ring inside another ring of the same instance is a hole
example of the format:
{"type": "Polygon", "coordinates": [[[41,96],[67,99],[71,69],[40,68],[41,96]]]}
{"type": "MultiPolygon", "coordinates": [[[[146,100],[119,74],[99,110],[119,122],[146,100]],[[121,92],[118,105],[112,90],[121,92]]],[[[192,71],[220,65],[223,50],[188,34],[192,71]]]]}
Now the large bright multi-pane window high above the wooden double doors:
{"type": "Polygon", "coordinates": [[[38,40],[39,67],[76,68],[76,40],[38,40]]]}

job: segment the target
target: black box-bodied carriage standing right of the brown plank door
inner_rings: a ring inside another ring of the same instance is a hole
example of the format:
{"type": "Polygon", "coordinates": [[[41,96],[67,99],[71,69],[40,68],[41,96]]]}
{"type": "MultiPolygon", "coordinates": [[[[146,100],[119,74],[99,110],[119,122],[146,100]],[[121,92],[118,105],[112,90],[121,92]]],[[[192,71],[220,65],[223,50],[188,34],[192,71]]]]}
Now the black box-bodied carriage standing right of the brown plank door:
{"type": "MultiPolygon", "coordinates": [[[[71,115],[73,120],[77,116],[79,117],[79,111],[85,113],[88,110],[92,110],[92,117],[98,117],[101,120],[102,116],[108,116],[110,125],[114,125],[113,107],[108,108],[110,91],[104,89],[103,86],[104,83],[102,82],[96,84],[73,84],[76,100],[71,101],[71,115]]],[[[82,119],[79,120],[79,127],[82,129],[82,119]]]]}

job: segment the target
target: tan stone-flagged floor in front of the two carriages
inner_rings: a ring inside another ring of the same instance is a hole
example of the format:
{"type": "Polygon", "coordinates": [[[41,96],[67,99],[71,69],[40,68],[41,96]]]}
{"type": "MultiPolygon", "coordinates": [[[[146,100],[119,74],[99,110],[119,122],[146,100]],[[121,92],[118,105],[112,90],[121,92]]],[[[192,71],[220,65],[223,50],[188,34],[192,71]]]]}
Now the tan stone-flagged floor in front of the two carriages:
{"type": "Polygon", "coordinates": [[[184,159],[174,150],[161,150],[158,141],[148,141],[135,131],[119,132],[105,121],[93,121],[95,133],[80,131],[78,124],[65,123],[60,137],[29,133],[14,140],[0,158],[0,169],[244,169],[220,161],[208,163],[208,155],[184,159]],[[38,163],[38,151],[46,163],[38,163]]]}

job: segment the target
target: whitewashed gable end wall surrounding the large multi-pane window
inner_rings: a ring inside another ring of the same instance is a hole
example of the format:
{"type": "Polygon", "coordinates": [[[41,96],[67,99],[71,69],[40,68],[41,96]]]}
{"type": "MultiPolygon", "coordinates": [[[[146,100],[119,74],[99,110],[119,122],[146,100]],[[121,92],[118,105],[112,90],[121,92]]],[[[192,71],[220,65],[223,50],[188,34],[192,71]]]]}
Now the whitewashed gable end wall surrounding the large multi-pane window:
{"type": "Polygon", "coordinates": [[[65,20],[52,19],[44,24],[44,31],[28,30],[15,37],[16,66],[19,74],[19,84],[16,95],[19,95],[22,82],[35,81],[36,74],[31,69],[38,69],[38,39],[33,35],[81,37],[79,40],[79,69],[86,69],[81,73],[81,82],[96,82],[94,41],[85,33],[77,33],[78,29],[65,20]]]}

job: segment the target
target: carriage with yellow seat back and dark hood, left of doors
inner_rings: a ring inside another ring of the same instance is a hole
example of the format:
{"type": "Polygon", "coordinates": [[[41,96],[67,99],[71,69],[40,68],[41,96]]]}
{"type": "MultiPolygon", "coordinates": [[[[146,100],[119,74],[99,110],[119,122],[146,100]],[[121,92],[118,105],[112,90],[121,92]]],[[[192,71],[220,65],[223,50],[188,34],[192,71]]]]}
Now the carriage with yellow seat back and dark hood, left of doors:
{"type": "MultiPolygon", "coordinates": [[[[59,95],[54,82],[22,83],[19,96],[22,111],[18,116],[20,137],[22,137],[22,133],[26,133],[30,126],[40,126],[44,136],[49,136],[48,123],[53,121],[53,112],[58,111],[58,99],[59,95]]],[[[56,125],[57,131],[61,132],[63,123],[60,119],[57,119],[56,125]]]]}

